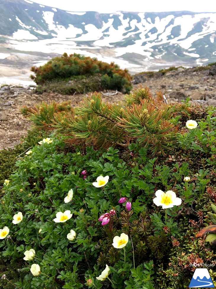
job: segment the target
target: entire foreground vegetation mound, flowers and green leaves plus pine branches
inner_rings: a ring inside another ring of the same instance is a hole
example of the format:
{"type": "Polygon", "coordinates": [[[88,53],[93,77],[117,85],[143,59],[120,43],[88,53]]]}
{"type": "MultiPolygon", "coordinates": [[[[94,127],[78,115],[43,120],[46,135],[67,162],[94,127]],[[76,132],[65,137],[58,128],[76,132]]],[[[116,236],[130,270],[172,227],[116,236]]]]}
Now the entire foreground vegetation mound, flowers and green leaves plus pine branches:
{"type": "Polygon", "coordinates": [[[58,107],[23,109],[37,133],[2,180],[1,288],[181,289],[215,266],[216,108],[142,86],[58,107]]]}

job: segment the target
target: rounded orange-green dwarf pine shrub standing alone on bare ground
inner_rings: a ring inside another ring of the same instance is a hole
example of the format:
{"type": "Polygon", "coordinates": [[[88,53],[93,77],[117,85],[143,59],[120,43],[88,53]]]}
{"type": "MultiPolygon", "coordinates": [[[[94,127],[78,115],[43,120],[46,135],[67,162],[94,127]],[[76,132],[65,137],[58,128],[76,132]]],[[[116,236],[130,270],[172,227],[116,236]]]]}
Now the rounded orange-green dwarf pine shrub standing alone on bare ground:
{"type": "Polygon", "coordinates": [[[37,90],[56,91],[63,94],[85,93],[103,89],[117,89],[129,92],[132,79],[128,70],[121,70],[117,64],[108,64],[96,58],[80,54],[64,53],[40,67],[31,67],[35,73],[31,78],[39,85],[37,90]]]}

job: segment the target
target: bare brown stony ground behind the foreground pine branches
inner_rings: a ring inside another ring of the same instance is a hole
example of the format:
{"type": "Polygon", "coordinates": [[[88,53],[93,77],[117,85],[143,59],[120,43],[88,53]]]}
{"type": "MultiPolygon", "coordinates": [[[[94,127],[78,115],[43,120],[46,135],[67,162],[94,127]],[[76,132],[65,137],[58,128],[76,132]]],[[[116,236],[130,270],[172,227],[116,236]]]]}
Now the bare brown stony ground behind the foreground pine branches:
{"type": "MultiPolygon", "coordinates": [[[[180,102],[187,97],[190,102],[201,105],[216,105],[216,66],[211,70],[201,68],[178,68],[166,72],[136,75],[133,87],[143,84],[155,94],[162,91],[167,102],[180,102]]],[[[103,92],[102,98],[105,102],[113,103],[123,99],[124,94],[118,92],[103,92]]],[[[61,95],[57,93],[36,94],[33,87],[27,89],[18,86],[3,86],[0,89],[0,149],[13,147],[20,142],[20,138],[27,134],[31,122],[20,113],[24,105],[34,106],[41,101],[63,102],[70,100],[72,106],[76,106],[83,98],[83,94],[61,95]]]]}

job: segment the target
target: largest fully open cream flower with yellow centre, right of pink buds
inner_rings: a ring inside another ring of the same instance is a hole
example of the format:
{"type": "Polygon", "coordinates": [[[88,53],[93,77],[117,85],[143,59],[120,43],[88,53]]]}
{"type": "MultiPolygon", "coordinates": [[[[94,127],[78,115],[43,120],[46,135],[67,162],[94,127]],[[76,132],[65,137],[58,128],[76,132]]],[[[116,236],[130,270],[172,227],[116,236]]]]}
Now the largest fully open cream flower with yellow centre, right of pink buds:
{"type": "Polygon", "coordinates": [[[162,190],[155,192],[156,198],[153,202],[156,206],[162,206],[162,209],[173,208],[173,206],[179,206],[182,202],[180,198],[176,198],[176,194],[173,191],[167,191],[166,193],[162,190]]]}

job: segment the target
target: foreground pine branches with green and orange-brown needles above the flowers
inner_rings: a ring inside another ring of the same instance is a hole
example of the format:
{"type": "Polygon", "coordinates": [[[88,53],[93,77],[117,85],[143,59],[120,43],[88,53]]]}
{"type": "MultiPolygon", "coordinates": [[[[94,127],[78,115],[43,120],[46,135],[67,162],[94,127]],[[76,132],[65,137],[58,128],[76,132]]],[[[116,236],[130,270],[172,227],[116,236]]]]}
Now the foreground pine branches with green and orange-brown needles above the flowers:
{"type": "Polygon", "coordinates": [[[101,94],[89,93],[76,108],[59,112],[58,105],[44,102],[26,111],[37,129],[56,130],[67,136],[67,143],[86,143],[95,149],[127,147],[138,140],[152,154],[161,152],[176,141],[178,128],[170,123],[171,107],[161,93],[154,100],[142,86],[126,95],[118,104],[102,102],[101,94]]]}

